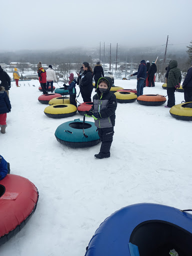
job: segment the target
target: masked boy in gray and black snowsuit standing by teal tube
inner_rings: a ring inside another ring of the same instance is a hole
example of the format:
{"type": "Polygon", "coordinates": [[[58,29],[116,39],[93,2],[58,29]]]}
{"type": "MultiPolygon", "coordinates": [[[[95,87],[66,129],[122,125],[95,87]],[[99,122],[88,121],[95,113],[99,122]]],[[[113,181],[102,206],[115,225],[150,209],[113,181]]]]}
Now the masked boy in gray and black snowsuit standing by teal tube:
{"type": "Polygon", "coordinates": [[[110,92],[112,80],[108,76],[100,77],[97,83],[96,94],[93,96],[93,105],[85,116],[93,117],[101,140],[100,152],[95,154],[97,159],[110,157],[110,146],[114,134],[116,96],[110,92]]]}

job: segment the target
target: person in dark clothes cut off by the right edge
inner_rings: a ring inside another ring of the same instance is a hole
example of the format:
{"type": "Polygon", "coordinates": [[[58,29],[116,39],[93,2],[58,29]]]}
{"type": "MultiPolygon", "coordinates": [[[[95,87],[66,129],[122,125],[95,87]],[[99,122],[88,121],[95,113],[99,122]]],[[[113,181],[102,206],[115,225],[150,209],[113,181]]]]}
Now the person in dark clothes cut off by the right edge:
{"type": "Polygon", "coordinates": [[[184,89],[184,100],[185,102],[192,101],[192,61],[191,67],[188,69],[184,81],[182,83],[184,89]]]}

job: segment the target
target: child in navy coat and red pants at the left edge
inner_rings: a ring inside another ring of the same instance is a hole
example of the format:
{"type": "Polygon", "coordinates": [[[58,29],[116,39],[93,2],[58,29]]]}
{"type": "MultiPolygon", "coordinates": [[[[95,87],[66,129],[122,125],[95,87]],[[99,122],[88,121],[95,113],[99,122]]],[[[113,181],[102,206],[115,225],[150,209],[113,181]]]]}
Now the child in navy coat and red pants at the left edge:
{"type": "MultiPolygon", "coordinates": [[[[0,81],[1,83],[1,81],[0,81]]],[[[0,84],[1,85],[1,84],[0,84]]],[[[0,132],[5,133],[6,113],[10,112],[11,105],[3,86],[0,86],[0,132]]]]}

